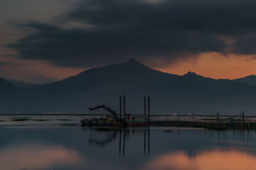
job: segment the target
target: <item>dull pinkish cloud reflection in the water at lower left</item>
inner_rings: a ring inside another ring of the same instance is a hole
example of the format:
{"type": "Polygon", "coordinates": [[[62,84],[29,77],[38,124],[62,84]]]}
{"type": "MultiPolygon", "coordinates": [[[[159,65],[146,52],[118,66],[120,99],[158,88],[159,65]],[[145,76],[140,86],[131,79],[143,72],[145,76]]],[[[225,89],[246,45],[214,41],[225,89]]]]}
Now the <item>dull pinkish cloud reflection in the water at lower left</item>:
{"type": "Polygon", "coordinates": [[[1,169],[48,169],[82,162],[75,151],[60,146],[12,146],[0,151],[1,169]]]}

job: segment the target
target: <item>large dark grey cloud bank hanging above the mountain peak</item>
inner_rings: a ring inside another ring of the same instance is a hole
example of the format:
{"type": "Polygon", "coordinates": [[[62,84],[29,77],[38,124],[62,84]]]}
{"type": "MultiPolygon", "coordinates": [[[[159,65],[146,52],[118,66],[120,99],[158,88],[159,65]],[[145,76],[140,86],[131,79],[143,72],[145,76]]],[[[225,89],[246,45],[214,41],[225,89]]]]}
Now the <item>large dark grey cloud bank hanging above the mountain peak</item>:
{"type": "Polygon", "coordinates": [[[161,58],[184,60],[202,52],[256,53],[256,1],[88,0],[61,18],[61,26],[28,22],[35,29],[7,45],[22,59],[58,66],[93,67],[161,58]],[[63,25],[78,22],[81,28],[63,25]],[[233,41],[230,43],[228,39],[233,41]],[[184,55],[190,53],[191,55],[184,55]]]}

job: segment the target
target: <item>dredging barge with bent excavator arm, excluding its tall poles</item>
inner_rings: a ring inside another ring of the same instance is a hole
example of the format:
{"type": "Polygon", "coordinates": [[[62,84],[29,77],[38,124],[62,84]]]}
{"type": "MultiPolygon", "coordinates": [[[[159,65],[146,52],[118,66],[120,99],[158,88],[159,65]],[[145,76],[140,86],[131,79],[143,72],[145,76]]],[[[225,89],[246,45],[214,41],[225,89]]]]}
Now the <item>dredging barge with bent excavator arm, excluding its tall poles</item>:
{"type": "Polygon", "coordinates": [[[129,113],[125,113],[124,117],[118,117],[116,111],[111,110],[106,105],[100,105],[95,108],[88,108],[88,110],[97,110],[104,108],[112,113],[113,117],[106,116],[105,118],[90,118],[81,120],[82,125],[106,125],[106,126],[129,126],[129,127],[147,127],[149,125],[148,117],[145,116],[132,116],[129,113]]]}

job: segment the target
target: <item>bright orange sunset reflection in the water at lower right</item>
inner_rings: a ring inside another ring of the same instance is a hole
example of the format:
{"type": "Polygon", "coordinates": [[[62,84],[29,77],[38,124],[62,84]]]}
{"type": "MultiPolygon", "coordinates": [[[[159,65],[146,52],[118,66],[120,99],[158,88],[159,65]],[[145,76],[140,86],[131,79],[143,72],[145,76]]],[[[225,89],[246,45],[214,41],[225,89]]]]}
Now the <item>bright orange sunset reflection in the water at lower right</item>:
{"type": "Polygon", "coordinates": [[[173,169],[173,170],[254,170],[256,156],[237,150],[211,150],[197,153],[190,157],[184,152],[160,155],[150,160],[142,169],[173,169]]]}

